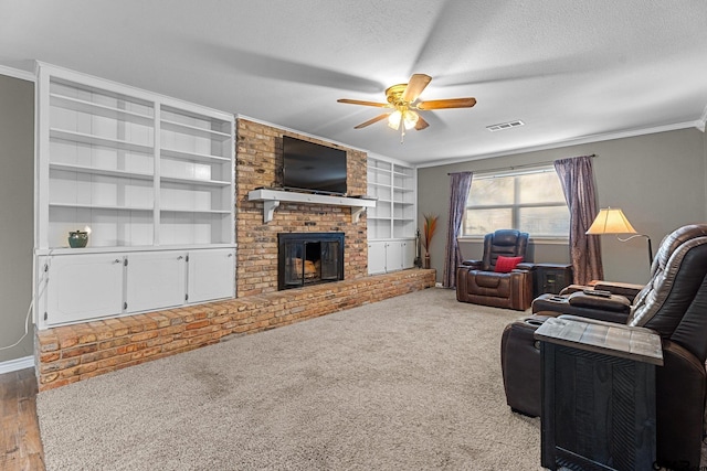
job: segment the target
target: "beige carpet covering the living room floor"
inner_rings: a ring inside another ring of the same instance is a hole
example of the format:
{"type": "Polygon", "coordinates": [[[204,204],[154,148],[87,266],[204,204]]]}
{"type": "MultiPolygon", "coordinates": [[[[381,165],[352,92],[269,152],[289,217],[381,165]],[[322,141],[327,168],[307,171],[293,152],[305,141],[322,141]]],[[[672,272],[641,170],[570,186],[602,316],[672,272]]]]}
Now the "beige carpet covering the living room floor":
{"type": "Polygon", "coordinates": [[[540,470],[510,413],[523,313],[428,289],[41,393],[52,470],[540,470]]]}

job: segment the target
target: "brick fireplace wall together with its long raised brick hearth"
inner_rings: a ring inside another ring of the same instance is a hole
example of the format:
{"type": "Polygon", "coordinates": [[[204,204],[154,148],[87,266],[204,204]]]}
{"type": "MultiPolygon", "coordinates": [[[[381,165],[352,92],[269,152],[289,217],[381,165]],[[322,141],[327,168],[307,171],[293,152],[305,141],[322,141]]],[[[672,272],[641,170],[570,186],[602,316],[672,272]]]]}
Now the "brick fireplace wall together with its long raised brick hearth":
{"type": "Polygon", "coordinates": [[[251,190],[279,185],[284,135],[345,149],[351,195],[366,194],[365,151],[244,118],[236,135],[238,297],[39,331],[40,390],[434,286],[434,270],[368,276],[366,216],[352,221],[348,207],[283,203],[265,224],[263,203],[247,200],[251,190]],[[345,233],[345,280],[277,291],[277,234],[291,232],[345,233]]]}

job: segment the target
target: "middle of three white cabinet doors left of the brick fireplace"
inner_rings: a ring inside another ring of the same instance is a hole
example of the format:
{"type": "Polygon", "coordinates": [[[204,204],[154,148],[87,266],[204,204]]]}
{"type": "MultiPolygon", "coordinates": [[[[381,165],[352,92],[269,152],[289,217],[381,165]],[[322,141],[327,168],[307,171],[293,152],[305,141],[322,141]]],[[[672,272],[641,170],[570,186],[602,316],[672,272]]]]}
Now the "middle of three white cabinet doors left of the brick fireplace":
{"type": "Polygon", "coordinates": [[[127,256],[127,312],[163,309],[184,303],[187,253],[136,253],[127,256]]]}

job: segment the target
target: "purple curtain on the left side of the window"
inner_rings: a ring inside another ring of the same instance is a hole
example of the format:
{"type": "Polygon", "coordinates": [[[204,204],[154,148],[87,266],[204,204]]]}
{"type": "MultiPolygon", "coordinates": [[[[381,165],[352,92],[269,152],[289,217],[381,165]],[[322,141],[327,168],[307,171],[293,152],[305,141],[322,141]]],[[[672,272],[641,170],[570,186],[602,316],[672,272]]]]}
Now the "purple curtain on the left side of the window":
{"type": "Polygon", "coordinates": [[[446,231],[446,248],[444,253],[444,272],[442,286],[444,288],[456,287],[456,267],[462,265],[462,251],[456,237],[462,228],[464,208],[468,200],[468,191],[472,189],[472,172],[458,172],[450,174],[450,225],[446,231]]]}

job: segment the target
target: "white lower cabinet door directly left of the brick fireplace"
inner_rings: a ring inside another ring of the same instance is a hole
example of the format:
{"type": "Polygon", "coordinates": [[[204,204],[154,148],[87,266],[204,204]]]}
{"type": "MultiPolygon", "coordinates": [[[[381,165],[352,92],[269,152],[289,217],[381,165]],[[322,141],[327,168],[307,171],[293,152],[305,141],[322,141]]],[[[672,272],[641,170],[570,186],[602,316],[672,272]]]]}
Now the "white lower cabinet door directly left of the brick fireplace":
{"type": "Polygon", "coordinates": [[[189,253],[188,302],[235,296],[235,250],[232,248],[189,253]]]}

